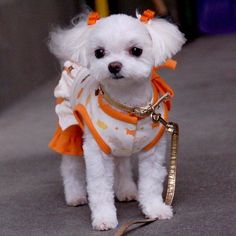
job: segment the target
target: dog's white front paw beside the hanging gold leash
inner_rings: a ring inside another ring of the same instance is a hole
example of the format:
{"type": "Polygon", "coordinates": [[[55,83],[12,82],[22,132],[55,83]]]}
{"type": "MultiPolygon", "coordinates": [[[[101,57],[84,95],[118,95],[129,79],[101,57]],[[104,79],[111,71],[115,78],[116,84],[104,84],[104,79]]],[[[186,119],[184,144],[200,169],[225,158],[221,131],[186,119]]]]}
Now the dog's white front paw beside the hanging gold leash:
{"type": "Polygon", "coordinates": [[[150,203],[142,206],[144,215],[149,219],[171,219],[173,216],[173,210],[171,206],[165,203],[150,203]]]}

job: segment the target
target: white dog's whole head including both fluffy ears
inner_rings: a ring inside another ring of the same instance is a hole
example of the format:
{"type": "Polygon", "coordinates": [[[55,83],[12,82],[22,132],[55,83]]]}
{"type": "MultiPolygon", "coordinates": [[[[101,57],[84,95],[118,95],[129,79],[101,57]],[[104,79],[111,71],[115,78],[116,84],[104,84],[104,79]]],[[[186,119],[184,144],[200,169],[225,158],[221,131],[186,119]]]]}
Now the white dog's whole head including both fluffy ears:
{"type": "Polygon", "coordinates": [[[99,82],[118,85],[146,80],[152,67],[176,54],[184,42],[178,28],[165,20],[143,23],[120,14],[53,32],[50,49],[62,60],[87,67],[99,82]]]}

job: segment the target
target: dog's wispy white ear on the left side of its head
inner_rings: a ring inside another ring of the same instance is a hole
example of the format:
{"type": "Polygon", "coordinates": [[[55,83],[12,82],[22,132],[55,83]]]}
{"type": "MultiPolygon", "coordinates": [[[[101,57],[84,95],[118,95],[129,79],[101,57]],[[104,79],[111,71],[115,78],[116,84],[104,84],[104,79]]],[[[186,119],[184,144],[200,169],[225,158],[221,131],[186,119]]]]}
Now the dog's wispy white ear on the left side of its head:
{"type": "Polygon", "coordinates": [[[87,67],[86,43],[88,35],[89,27],[85,20],[69,29],[57,28],[50,33],[49,49],[61,63],[72,60],[87,67]]]}

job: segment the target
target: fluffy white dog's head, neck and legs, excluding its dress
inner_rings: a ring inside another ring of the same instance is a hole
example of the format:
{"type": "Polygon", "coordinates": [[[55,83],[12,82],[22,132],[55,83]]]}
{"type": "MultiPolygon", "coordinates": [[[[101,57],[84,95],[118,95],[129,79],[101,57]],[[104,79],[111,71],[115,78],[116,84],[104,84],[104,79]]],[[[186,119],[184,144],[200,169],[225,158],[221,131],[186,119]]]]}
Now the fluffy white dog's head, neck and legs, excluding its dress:
{"type": "MultiPolygon", "coordinates": [[[[70,29],[53,32],[50,49],[61,61],[87,68],[90,79],[101,84],[115,101],[140,107],[153,96],[152,68],[176,54],[184,42],[178,28],[163,19],[143,23],[119,14],[93,25],[81,20],[70,29]]],[[[70,86],[66,96],[71,96],[70,86]]],[[[66,106],[70,108],[70,102],[66,106]]],[[[86,203],[88,193],[94,229],[117,226],[114,194],[120,201],[138,200],[148,218],[172,217],[171,207],[162,199],[167,173],[163,166],[165,135],[150,150],[134,150],[123,156],[105,154],[86,125],[83,139],[84,158],[63,156],[61,173],[68,205],[86,203]],[[131,173],[131,158],[138,158],[138,187],[131,173]]]]}

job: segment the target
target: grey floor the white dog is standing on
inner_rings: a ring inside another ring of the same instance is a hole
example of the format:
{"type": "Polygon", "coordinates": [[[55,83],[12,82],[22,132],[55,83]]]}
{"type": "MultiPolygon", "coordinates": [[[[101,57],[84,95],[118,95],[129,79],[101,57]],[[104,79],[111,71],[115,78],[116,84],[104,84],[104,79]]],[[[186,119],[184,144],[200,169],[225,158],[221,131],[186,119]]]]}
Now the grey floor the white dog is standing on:
{"type": "MultiPolygon", "coordinates": [[[[163,71],[175,89],[171,120],[181,140],[175,216],[128,235],[235,235],[236,35],[202,37],[163,71]]],[[[114,235],[93,231],[88,206],[67,207],[49,82],[0,115],[0,235],[114,235]]],[[[120,225],[142,218],[136,202],[117,203],[120,225]]]]}

